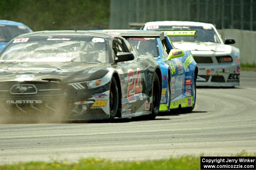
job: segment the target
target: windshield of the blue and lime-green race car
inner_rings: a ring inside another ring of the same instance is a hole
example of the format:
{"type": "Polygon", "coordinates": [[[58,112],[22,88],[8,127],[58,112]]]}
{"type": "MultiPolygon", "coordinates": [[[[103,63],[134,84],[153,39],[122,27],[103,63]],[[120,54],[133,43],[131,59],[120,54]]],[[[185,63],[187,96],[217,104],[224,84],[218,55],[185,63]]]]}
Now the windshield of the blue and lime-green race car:
{"type": "Polygon", "coordinates": [[[158,44],[156,38],[138,38],[130,37],[127,39],[140,55],[153,57],[159,56],[158,44]]]}

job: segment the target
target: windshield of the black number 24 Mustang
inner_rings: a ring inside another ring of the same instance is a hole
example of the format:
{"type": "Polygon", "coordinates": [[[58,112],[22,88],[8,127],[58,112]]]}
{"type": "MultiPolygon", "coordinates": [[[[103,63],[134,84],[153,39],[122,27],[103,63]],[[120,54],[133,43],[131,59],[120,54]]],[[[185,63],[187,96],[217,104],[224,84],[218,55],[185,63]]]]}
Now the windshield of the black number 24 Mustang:
{"type": "Polygon", "coordinates": [[[0,61],[107,63],[108,43],[99,37],[33,37],[14,39],[0,61]]]}

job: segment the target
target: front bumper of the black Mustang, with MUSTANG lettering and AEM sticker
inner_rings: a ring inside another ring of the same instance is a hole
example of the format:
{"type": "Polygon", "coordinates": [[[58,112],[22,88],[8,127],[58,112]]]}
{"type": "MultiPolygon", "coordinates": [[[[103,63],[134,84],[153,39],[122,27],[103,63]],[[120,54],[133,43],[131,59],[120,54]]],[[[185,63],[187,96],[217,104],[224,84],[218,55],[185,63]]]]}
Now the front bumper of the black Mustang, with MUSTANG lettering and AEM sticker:
{"type": "Polygon", "coordinates": [[[96,120],[109,118],[109,83],[93,89],[69,90],[56,95],[2,95],[4,119],[96,120]]]}

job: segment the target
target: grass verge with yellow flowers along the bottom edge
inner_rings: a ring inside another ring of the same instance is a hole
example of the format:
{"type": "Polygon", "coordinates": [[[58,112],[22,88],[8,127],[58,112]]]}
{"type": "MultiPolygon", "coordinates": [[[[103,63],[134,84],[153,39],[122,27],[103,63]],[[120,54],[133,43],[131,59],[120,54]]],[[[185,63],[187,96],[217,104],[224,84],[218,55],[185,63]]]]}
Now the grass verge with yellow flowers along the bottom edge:
{"type": "MultiPolygon", "coordinates": [[[[255,156],[242,151],[239,154],[231,156],[255,156]]],[[[148,160],[148,161],[111,161],[109,159],[83,158],[77,163],[62,162],[27,162],[17,163],[12,165],[0,165],[0,169],[59,169],[59,170],[94,170],[94,169],[182,169],[192,170],[200,169],[200,156],[181,156],[178,158],[170,157],[169,159],[148,160]]]]}

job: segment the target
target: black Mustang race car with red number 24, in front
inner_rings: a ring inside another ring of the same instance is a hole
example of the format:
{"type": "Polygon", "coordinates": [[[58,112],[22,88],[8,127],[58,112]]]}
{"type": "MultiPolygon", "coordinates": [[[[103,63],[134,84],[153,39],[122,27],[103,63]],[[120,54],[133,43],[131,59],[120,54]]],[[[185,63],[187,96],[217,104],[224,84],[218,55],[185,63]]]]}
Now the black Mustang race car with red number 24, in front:
{"type": "Polygon", "coordinates": [[[1,120],[154,119],[161,81],[155,59],[116,34],[31,32],[0,53],[1,120]]]}

